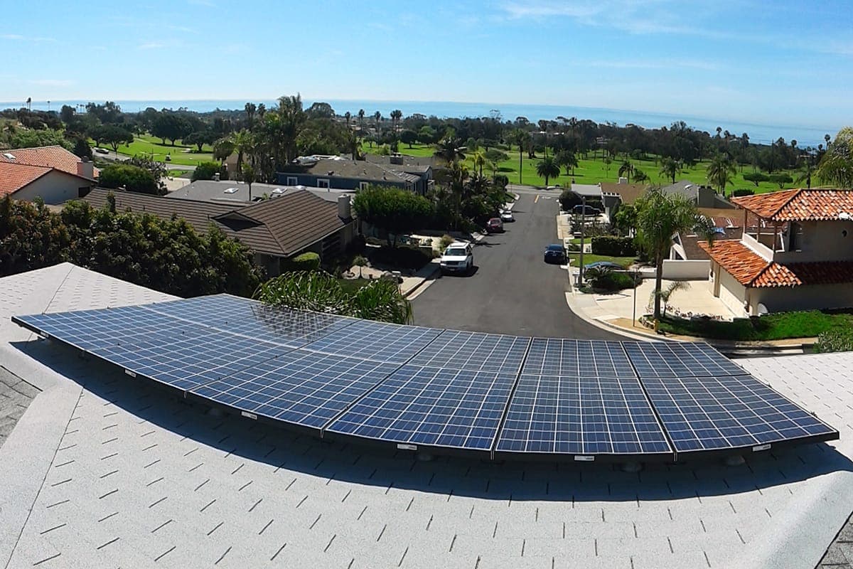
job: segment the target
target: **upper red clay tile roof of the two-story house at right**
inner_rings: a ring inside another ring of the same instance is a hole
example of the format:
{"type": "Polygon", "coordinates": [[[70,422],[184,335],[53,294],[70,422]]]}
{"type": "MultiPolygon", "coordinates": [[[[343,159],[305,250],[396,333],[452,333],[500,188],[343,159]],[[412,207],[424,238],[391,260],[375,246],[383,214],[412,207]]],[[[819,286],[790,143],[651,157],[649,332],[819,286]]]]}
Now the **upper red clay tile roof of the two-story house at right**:
{"type": "Polygon", "coordinates": [[[840,212],[853,214],[853,191],[847,189],[788,189],[732,201],[773,221],[828,221],[838,219],[840,212]]]}

